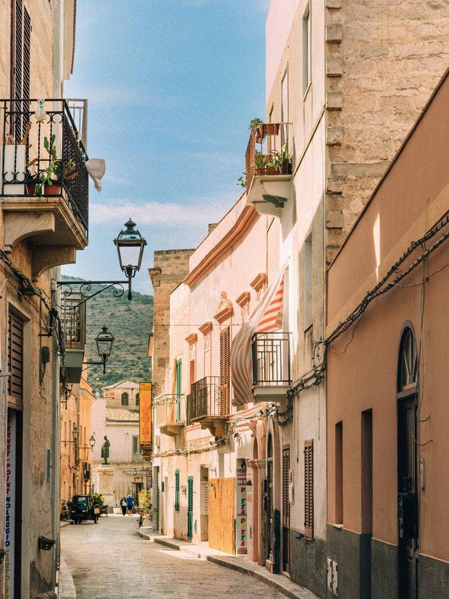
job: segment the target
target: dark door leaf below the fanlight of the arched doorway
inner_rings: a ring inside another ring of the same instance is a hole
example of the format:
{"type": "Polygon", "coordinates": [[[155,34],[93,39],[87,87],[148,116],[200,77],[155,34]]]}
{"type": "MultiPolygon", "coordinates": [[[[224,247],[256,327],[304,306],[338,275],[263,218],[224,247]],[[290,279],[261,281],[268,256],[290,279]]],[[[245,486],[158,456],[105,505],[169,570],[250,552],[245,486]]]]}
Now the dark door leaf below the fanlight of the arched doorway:
{"type": "Polygon", "coordinates": [[[399,599],[418,596],[419,510],[415,396],[398,401],[399,599]]]}

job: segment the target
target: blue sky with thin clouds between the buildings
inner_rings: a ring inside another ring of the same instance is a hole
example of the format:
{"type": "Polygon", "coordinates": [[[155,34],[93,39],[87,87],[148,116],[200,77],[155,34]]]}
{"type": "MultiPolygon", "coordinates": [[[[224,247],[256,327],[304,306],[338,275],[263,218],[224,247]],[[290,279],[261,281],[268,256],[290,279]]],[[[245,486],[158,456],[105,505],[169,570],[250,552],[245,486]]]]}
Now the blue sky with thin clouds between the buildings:
{"type": "Polygon", "coordinates": [[[122,278],[113,239],[146,239],[133,288],[151,293],[153,251],[196,247],[240,196],[249,121],[265,115],[268,0],[78,0],[65,97],[88,99],[89,245],[63,274],[122,278]],[[93,6],[95,5],[95,9],[93,6]]]}

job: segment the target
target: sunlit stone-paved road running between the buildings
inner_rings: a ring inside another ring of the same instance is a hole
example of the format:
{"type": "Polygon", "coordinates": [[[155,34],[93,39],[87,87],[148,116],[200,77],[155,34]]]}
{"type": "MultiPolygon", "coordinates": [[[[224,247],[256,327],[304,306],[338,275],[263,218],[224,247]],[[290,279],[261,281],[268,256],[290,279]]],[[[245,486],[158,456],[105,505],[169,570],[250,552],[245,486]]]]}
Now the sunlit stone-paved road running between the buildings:
{"type": "Polygon", "coordinates": [[[143,540],[138,520],[102,517],[61,530],[78,599],[285,599],[250,576],[143,540]]]}

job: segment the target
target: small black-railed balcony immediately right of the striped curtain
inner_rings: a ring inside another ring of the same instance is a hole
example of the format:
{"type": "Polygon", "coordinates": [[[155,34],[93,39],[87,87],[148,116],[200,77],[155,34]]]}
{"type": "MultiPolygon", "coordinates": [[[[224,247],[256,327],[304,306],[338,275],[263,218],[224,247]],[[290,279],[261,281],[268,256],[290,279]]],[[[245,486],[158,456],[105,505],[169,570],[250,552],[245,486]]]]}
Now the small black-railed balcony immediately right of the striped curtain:
{"type": "Polygon", "coordinates": [[[252,337],[254,401],[278,401],[292,386],[288,332],[255,333],[252,337]]]}

